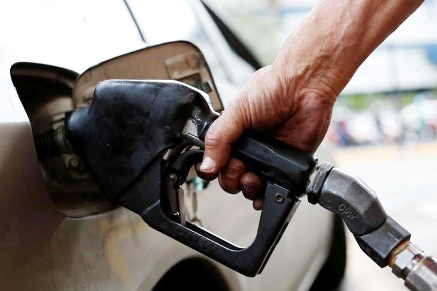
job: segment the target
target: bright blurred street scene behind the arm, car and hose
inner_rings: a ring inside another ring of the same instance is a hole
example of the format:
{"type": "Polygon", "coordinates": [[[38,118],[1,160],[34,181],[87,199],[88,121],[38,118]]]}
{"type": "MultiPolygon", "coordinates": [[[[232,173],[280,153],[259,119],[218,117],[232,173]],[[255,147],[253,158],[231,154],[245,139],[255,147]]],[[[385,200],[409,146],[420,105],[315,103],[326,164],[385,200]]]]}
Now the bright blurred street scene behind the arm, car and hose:
{"type": "MultiPolygon", "coordinates": [[[[262,65],[315,0],[205,1],[262,65]]],[[[437,1],[425,0],[361,65],[340,94],[324,144],[333,160],[372,188],[412,242],[437,254],[437,1]]],[[[348,237],[339,290],[399,290],[348,237]]]]}

